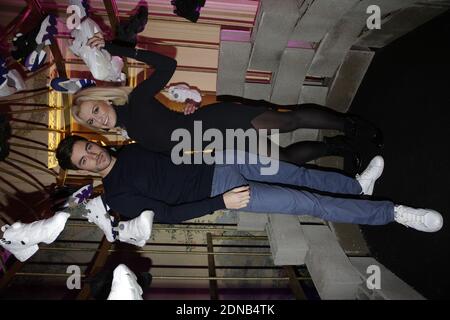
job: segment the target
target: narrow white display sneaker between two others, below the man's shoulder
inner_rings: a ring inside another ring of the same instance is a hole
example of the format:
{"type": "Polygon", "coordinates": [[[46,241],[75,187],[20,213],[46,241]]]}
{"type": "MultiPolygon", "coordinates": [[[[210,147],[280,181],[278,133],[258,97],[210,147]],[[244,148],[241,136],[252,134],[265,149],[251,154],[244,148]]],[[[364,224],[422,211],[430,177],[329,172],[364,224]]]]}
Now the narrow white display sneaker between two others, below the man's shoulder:
{"type": "Polygon", "coordinates": [[[87,214],[86,218],[89,222],[95,223],[105,233],[106,239],[109,242],[114,242],[115,237],[113,233],[114,217],[108,213],[109,207],[103,203],[101,196],[91,199],[86,204],[87,214]]]}

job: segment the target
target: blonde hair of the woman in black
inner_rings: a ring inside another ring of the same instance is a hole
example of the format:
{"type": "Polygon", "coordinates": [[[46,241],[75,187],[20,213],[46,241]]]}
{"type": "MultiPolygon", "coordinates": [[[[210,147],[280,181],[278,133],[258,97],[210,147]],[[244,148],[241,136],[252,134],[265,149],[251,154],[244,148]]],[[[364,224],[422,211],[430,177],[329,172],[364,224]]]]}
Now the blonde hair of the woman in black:
{"type": "Polygon", "coordinates": [[[78,123],[98,131],[98,128],[92,127],[83,121],[78,115],[80,113],[80,105],[84,101],[111,101],[114,105],[123,105],[128,102],[128,95],[133,89],[130,87],[91,87],[78,91],[73,96],[72,116],[78,123]]]}

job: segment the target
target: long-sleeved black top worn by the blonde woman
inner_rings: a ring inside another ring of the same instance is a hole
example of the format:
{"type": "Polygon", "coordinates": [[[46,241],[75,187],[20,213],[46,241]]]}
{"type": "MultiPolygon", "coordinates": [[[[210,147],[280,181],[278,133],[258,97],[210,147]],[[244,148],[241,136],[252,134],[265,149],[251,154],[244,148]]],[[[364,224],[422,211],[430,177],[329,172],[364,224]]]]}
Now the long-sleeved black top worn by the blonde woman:
{"type": "Polygon", "coordinates": [[[267,107],[220,102],[200,108],[191,115],[172,111],[154,96],[164,89],[172,77],[177,66],[176,60],[156,52],[121,47],[110,42],[106,43],[105,49],[111,55],[130,57],[155,69],[148,79],[133,89],[127,104],[115,107],[117,126],[125,128],[131,139],[149,150],[170,154],[171,149],[179,143],[171,141],[172,132],[184,128],[193,139],[194,121],[202,121],[203,132],[216,128],[225,137],[227,128],[252,128],[250,121],[268,110],[267,107]]]}

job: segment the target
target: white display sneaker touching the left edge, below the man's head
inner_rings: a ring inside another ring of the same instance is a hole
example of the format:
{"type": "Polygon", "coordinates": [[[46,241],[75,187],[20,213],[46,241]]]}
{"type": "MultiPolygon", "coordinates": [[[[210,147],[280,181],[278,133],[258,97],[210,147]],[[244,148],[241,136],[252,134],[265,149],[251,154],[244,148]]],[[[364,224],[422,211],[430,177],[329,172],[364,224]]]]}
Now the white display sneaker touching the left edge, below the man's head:
{"type": "Polygon", "coordinates": [[[0,245],[24,262],[38,251],[38,243],[50,244],[55,241],[69,217],[70,214],[61,211],[51,218],[32,223],[17,221],[11,226],[4,225],[1,228],[4,233],[0,245]]]}

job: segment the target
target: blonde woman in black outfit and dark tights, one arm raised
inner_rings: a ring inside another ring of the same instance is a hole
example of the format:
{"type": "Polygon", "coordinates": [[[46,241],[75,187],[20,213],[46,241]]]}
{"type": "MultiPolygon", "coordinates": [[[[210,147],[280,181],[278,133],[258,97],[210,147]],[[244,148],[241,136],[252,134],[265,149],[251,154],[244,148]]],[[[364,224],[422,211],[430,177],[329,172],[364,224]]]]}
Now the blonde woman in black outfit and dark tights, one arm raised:
{"type": "MultiPolygon", "coordinates": [[[[91,38],[88,45],[104,48],[111,55],[144,62],[151,65],[154,72],[134,89],[97,87],[80,90],[74,96],[73,117],[80,124],[93,129],[122,128],[131,139],[152,151],[170,155],[172,148],[179,144],[178,141],[171,141],[172,132],[184,128],[193,137],[194,121],[201,121],[204,131],[216,128],[223,136],[226,129],[279,129],[280,132],[298,128],[334,129],[351,137],[368,138],[381,144],[381,134],[373,126],[311,103],[298,105],[290,112],[233,102],[210,104],[195,112],[193,104],[188,103],[184,114],[172,111],[158,101],[155,95],[171,79],[177,66],[176,60],[152,51],[105,43],[101,34],[91,38]]],[[[349,155],[359,167],[359,157],[345,136],[328,138],[324,142],[298,142],[279,150],[280,160],[296,164],[329,155],[349,155]]]]}

